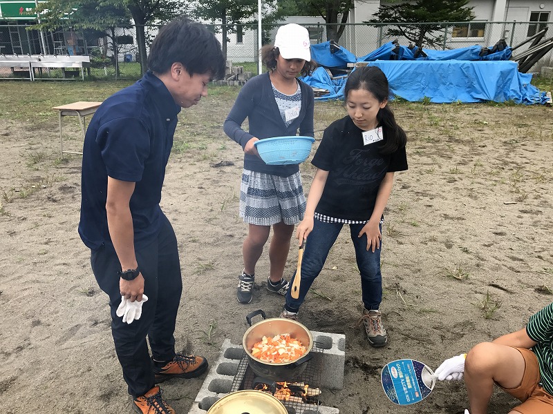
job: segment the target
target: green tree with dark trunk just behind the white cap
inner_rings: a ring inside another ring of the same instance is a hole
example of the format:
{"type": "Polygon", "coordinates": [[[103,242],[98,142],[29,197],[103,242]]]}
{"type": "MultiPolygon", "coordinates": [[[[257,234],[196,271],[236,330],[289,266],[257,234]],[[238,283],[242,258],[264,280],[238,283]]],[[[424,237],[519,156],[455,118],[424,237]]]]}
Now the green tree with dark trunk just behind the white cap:
{"type": "Polygon", "coordinates": [[[354,0],[285,0],[279,2],[283,14],[291,16],[321,16],[326,23],[326,40],[339,41],[346,29],[348,14],[354,0]]]}

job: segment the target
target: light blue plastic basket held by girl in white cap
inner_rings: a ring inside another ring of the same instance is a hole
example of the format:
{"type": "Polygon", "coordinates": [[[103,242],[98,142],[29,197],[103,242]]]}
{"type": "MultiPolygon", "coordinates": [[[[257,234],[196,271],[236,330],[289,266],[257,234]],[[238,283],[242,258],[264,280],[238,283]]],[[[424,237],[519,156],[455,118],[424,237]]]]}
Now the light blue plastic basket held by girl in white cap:
{"type": "Polygon", "coordinates": [[[306,161],[314,142],[312,137],[272,137],[260,139],[254,146],[265,164],[285,166],[306,161]]]}

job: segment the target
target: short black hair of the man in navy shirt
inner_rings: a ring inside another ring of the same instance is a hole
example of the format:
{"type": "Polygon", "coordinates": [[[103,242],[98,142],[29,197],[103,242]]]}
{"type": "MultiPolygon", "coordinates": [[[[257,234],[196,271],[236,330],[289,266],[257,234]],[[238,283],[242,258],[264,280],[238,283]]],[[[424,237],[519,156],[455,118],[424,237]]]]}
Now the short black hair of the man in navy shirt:
{"type": "Polygon", "coordinates": [[[186,17],[179,17],[160,29],[148,56],[149,70],[160,74],[166,73],[175,62],[182,63],[189,75],[209,72],[213,79],[225,76],[221,43],[203,24],[186,17]]]}

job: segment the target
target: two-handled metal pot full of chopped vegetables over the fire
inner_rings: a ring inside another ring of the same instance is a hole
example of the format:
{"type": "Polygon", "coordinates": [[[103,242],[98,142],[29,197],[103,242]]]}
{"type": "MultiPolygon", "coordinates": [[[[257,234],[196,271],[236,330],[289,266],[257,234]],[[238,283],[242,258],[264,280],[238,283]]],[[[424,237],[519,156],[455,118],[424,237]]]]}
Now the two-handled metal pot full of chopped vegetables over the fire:
{"type": "Polygon", "coordinates": [[[313,337],[308,328],[292,319],[265,319],[261,309],[248,314],[246,320],[250,328],[242,344],[252,371],[275,382],[296,380],[313,357],[313,337]],[[263,320],[252,325],[256,315],[263,320]]]}

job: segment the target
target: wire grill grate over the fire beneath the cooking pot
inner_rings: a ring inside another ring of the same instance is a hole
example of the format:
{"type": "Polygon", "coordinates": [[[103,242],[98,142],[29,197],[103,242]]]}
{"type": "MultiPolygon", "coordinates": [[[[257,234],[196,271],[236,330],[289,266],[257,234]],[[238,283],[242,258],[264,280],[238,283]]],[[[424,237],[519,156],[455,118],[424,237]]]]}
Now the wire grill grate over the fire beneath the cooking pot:
{"type": "MultiPolygon", "coordinates": [[[[324,349],[321,348],[317,342],[313,342],[311,348],[313,355],[312,359],[306,362],[306,370],[297,378],[297,382],[304,382],[310,387],[318,388],[321,383],[321,361],[322,353],[324,349]]],[[[231,392],[241,391],[241,390],[251,390],[253,389],[253,382],[256,374],[250,368],[248,364],[247,354],[243,353],[240,363],[238,364],[238,371],[234,375],[234,380],[232,381],[232,386],[230,388],[231,392]]],[[[301,402],[291,402],[280,400],[282,404],[286,407],[290,414],[303,414],[303,413],[319,413],[319,399],[317,398],[317,404],[306,404],[301,402]]]]}

